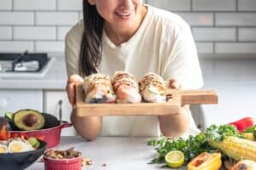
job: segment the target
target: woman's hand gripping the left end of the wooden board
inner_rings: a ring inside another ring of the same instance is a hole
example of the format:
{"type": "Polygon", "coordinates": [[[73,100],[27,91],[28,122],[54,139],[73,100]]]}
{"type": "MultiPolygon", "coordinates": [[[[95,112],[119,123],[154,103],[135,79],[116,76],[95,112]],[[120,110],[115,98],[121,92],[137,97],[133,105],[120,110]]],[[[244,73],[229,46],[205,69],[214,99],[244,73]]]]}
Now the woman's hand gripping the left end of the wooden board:
{"type": "Polygon", "coordinates": [[[79,75],[71,75],[67,79],[67,96],[69,103],[72,105],[73,109],[75,109],[75,84],[76,82],[84,82],[84,79],[82,77],[79,77],[79,75]]]}

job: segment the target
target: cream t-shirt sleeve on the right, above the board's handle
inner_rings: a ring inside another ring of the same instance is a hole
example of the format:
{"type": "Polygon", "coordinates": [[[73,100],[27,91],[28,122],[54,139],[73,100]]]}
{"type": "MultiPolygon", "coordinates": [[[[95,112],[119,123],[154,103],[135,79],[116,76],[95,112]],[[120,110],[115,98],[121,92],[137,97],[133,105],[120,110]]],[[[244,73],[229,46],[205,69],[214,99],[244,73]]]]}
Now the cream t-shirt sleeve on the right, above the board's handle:
{"type": "MultiPolygon", "coordinates": [[[[197,89],[203,85],[201,67],[195,47],[195,41],[189,26],[184,23],[182,29],[172,34],[172,42],[166,50],[166,63],[163,64],[162,77],[165,80],[176,79],[184,89],[197,89]]],[[[167,47],[166,47],[167,48],[167,47]]]]}

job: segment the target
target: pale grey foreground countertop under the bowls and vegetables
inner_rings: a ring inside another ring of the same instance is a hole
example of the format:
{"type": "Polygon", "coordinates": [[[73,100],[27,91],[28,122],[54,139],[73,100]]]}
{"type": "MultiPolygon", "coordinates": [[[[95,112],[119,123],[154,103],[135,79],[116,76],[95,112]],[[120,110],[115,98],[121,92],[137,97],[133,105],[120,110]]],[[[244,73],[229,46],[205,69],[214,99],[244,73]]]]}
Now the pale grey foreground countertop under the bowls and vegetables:
{"type": "MultiPolygon", "coordinates": [[[[87,142],[79,136],[61,137],[61,143],[53,148],[67,150],[74,147],[83,156],[94,161],[92,165],[82,169],[96,170],[170,170],[160,164],[148,164],[156,156],[153,147],[147,145],[150,138],[145,137],[99,137],[95,141],[87,142]],[[102,164],[107,164],[103,167],[102,164]]],[[[44,163],[35,162],[27,170],[44,169],[44,163]]],[[[179,168],[185,170],[186,167],[179,168]]],[[[178,169],[176,169],[178,170],[178,169]]]]}

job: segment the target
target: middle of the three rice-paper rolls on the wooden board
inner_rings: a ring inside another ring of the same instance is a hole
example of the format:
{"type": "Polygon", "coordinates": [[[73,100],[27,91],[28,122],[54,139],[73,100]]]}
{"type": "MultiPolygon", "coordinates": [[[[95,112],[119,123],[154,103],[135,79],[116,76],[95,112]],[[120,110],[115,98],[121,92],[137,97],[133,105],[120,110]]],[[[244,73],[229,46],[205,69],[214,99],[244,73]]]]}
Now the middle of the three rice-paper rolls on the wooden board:
{"type": "Polygon", "coordinates": [[[142,101],[136,78],[130,73],[116,71],[112,84],[117,103],[139,103],[142,101]]]}

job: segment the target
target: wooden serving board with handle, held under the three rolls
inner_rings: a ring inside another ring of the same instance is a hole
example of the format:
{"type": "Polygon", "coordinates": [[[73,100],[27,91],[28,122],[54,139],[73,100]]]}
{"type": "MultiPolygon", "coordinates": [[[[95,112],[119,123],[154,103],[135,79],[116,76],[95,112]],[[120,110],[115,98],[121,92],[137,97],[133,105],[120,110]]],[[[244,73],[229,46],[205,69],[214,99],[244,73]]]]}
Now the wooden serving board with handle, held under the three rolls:
{"type": "Polygon", "coordinates": [[[166,82],[166,102],[138,104],[88,104],[84,103],[81,82],[76,84],[76,108],[78,116],[128,116],[128,115],[170,115],[183,105],[218,104],[213,90],[174,90],[166,82]]]}

